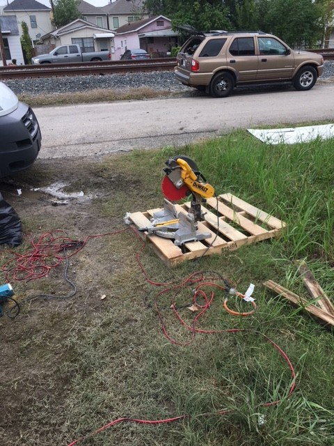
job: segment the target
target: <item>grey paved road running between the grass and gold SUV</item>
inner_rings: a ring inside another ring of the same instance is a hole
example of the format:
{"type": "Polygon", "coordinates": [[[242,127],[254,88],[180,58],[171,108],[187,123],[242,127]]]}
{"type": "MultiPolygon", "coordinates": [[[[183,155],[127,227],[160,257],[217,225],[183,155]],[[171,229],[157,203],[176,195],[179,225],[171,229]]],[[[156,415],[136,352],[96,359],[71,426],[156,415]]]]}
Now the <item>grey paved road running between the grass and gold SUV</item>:
{"type": "Polygon", "coordinates": [[[35,108],[42,129],[41,158],[96,156],[133,149],[181,146],[236,128],[334,122],[334,84],[109,104],[35,108]]]}

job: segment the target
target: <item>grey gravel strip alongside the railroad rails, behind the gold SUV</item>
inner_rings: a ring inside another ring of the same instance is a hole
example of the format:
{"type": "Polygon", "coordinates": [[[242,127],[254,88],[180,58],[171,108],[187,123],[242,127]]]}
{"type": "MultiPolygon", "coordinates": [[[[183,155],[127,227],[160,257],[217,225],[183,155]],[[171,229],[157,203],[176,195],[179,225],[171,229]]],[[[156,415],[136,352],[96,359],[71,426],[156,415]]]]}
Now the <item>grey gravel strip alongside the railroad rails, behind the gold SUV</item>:
{"type": "MultiPolygon", "coordinates": [[[[320,80],[334,80],[334,61],[324,63],[320,80]]],[[[175,79],[173,71],[136,72],[112,75],[43,77],[40,79],[8,79],[3,81],[16,94],[75,93],[93,89],[137,89],[147,87],[157,91],[182,92],[189,87],[175,79]]]]}

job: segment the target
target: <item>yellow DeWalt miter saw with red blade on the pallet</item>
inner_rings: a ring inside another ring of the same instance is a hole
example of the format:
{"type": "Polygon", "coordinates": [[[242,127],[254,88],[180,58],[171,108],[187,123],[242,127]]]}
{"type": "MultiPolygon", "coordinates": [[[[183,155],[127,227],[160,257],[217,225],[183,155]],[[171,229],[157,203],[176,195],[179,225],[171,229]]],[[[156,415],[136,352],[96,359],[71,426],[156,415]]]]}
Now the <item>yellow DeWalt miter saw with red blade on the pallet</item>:
{"type": "Polygon", "coordinates": [[[164,238],[174,239],[175,245],[210,238],[211,234],[198,230],[198,222],[204,220],[201,203],[214,195],[209,185],[191,158],[184,155],[170,158],[164,167],[161,188],[164,194],[164,209],[153,213],[150,225],[140,228],[164,238]],[[180,201],[191,195],[191,206],[187,213],[177,211],[170,201],[180,201]]]}

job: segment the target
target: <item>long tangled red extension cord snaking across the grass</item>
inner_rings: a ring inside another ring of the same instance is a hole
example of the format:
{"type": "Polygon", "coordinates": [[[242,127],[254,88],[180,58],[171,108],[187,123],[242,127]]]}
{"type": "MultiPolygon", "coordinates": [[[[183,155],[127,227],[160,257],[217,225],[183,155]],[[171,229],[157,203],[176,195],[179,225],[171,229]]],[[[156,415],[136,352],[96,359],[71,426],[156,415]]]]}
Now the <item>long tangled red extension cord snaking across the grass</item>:
{"type": "MultiPolygon", "coordinates": [[[[35,242],[33,238],[31,238],[31,247],[32,249],[29,250],[29,252],[26,252],[25,254],[18,254],[17,252],[13,252],[14,256],[12,259],[8,260],[1,268],[3,272],[5,272],[5,277],[8,282],[15,281],[15,280],[33,280],[33,279],[39,279],[40,277],[45,277],[49,274],[49,271],[52,268],[55,268],[56,266],[59,266],[65,259],[74,256],[74,254],[77,254],[88,242],[90,238],[100,238],[104,236],[111,236],[115,235],[117,233],[122,233],[125,231],[132,230],[134,231],[136,237],[138,240],[141,240],[138,231],[134,229],[132,226],[126,229],[121,229],[119,231],[113,231],[109,233],[104,233],[100,235],[91,235],[87,236],[84,240],[73,240],[71,238],[68,238],[66,234],[61,230],[56,230],[54,232],[47,232],[42,234],[40,238],[35,242]],[[70,254],[67,254],[67,250],[71,250],[70,254]],[[66,251],[66,254],[65,254],[66,251]]],[[[222,279],[221,277],[210,277],[209,279],[206,279],[204,274],[202,272],[195,272],[180,284],[173,284],[173,282],[169,283],[159,283],[159,282],[152,282],[150,278],[148,277],[148,274],[143,267],[140,256],[143,252],[143,249],[145,248],[145,243],[143,242],[142,248],[140,252],[136,254],[136,260],[138,263],[138,266],[141,268],[141,271],[143,272],[143,275],[145,276],[146,281],[154,286],[164,286],[165,288],[159,291],[157,295],[154,297],[154,307],[156,309],[159,321],[161,323],[162,331],[164,332],[164,336],[170,341],[172,344],[180,345],[180,346],[187,346],[191,344],[194,337],[197,333],[202,334],[217,334],[217,333],[237,333],[237,332],[252,332],[255,334],[260,334],[266,341],[269,342],[273,346],[273,348],[280,353],[280,355],[283,357],[283,360],[287,363],[289,370],[292,374],[292,381],[289,385],[289,390],[287,392],[287,397],[290,397],[292,395],[292,392],[294,392],[295,388],[295,378],[296,373],[294,371],[294,367],[292,366],[292,362],[289,360],[289,357],[287,354],[280,348],[274,341],[272,341],[269,337],[267,337],[266,334],[263,334],[257,330],[247,330],[242,328],[232,328],[232,329],[226,329],[226,330],[202,330],[200,328],[196,328],[196,325],[199,321],[199,319],[205,314],[207,309],[209,309],[209,306],[211,305],[212,301],[214,300],[214,291],[212,291],[213,288],[218,289],[220,291],[223,291],[226,293],[228,291],[228,286],[221,286],[219,284],[216,284],[215,281],[217,280],[223,280],[225,284],[227,283],[225,279],[222,279]],[[183,318],[180,316],[179,312],[177,311],[177,308],[175,306],[175,295],[177,294],[177,291],[180,289],[183,289],[185,286],[195,286],[195,289],[193,290],[193,305],[196,305],[198,308],[199,313],[196,315],[196,317],[193,319],[193,323],[191,325],[188,325],[183,318]],[[166,286],[168,286],[166,288],[166,286]],[[204,288],[209,287],[211,289],[210,295],[207,296],[207,293],[205,292],[204,288]],[[190,341],[186,343],[179,343],[172,337],[170,337],[170,334],[168,334],[168,331],[166,330],[166,327],[164,325],[164,320],[161,315],[161,312],[159,311],[159,307],[157,304],[157,300],[161,295],[164,295],[165,293],[173,292],[174,296],[172,298],[172,303],[170,308],[173,309],[173,313],[177,317],[177,319],[184,325],[184,327],[191,332],[191,339],[190,341]],[[204,302],[204,303],[200,303],[204,302]]],[[[233,284],[234,285],[234,284],[233,284]]],[[[232,286],[230,287],[232,288],[232,286]]],[[[245,296],[241,293],[235,293],[240,298],[244,298],[245,296]]],[[[225,294],[226,295],[226,294],[225,294]]],[[[227,305],[228,299],[225,298],[223,301],[223,307],[227,312],[229,312],[232,315],[238,315],[238,316],[249,316],[250,314],[253,314],[256,309],[255,302],[251,302],[253,305],[253,309],[250,312],[245,313],[239,313],[235,312],[234,310],[230,309],[227,305]]],[[[262,403],[263,407],[270,407],[275,406],[276,404],[280,403],[280,399],[277,401],[270,401],[267,403],[262,403]]],[[[221,410],[218,411],[219,415],[224,415],[225,413],[228,413],[228,410],[221,410]]],[[[209,415],[209,414],[207,414],[209,415]]],[[[108,424],[105,424],[100,429],[97,429],[97,431],[90,434],[90,436],[95,435],[97,433],[100,433],[104,431],[105,429],[108,429],[111,426],[115,426],[116,424],[120,422],[133,422],[138,424],[164,424],[164,423],[170,423],[175,422],[178,420],[184,420],[185,418],[189,417],[189,415],[179,415],[177,417],[172,418],[166,418],[164,420],[139,420],[136,418],[118,418],[117,420],[113,420],[112,422],[109,422],[108,424]]],[[[77,440],[72,441],[68,446],[74,446],[76,445],[80,440],[84,440],[82,437],[77,440]]]]}

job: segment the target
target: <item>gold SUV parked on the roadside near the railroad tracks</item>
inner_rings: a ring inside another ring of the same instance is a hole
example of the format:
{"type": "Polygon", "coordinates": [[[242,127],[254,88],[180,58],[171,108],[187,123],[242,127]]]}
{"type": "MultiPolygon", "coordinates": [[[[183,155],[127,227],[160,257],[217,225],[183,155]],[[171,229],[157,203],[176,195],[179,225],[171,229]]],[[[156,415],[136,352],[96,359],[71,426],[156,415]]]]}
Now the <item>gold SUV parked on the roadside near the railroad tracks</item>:
{"type": "Polygon", "coordinates": [[[196,33],[177,54],[182,84],[225,98],[241,85],[290,82],[310,90],[324,71],[319,54],[294,51],[271,34],[214,31],[196,33]]]}

